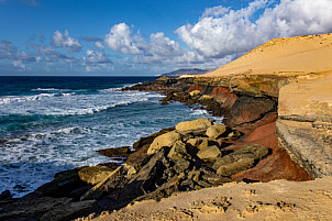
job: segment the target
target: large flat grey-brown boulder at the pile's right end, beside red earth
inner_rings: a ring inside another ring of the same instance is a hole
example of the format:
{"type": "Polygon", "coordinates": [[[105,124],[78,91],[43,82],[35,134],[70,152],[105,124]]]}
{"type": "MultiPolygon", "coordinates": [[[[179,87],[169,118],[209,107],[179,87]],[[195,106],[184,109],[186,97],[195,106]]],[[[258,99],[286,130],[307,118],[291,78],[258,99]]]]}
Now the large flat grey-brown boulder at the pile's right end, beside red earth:
{"type": "Polygon", "coordinates": [[[244,147],[218,157],[213,169],[222,176],[230,176],[237,172],[252,168],[257,162],[268,154],[268,148],[258,144],[245,145],[244,147]]]}

